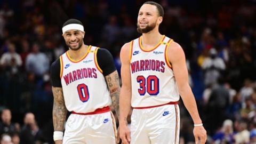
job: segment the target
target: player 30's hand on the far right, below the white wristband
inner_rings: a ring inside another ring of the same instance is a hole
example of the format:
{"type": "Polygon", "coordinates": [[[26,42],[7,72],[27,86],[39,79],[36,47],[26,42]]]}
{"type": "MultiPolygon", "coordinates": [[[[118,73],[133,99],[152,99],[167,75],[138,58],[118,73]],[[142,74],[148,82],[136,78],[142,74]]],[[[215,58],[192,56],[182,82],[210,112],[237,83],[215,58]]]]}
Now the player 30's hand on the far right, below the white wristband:
{"type": "Polygon", "coordinates": [[[204,126],[195,126],[193,133],[196,140],[196,144],[198,143],[198,137],[200,138],[201,144],[204,144],[206,142],[207,135],[204,126]]]}

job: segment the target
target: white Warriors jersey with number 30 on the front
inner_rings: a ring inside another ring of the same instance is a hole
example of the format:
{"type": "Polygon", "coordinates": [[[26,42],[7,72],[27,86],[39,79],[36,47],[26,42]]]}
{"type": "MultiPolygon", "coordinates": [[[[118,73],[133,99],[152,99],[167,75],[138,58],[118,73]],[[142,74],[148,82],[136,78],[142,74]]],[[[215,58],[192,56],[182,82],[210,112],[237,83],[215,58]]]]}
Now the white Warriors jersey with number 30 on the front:
{"type": "Polygon", "coordinates": [[[150,50],[142,47],[141,37],[131,42],[132,107],[157,106],[179,100],[178,86],[167,57],[172,41],[163,36],[150,50]]]}

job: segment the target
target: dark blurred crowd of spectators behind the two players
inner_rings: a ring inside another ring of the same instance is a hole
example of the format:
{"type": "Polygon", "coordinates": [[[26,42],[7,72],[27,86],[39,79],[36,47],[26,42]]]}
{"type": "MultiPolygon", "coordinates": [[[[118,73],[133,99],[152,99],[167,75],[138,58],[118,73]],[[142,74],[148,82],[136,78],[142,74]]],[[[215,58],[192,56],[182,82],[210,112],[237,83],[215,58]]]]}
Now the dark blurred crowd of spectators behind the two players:
{"type": "MultiPolygon", "coordinates": [[[[120,70],[124,43],[139,36],[146,1],[0,0],[1,143],[53,143],[50,65],[68,50],[63,22],[81,20],[85,44],[108,49],[120,70]]],[[[186,53],[207,143],[256,142],[256,1],[161,0],[160,26],[186,53]]],[[[180,143],[193,121],[179,102],[180,143]]]]}

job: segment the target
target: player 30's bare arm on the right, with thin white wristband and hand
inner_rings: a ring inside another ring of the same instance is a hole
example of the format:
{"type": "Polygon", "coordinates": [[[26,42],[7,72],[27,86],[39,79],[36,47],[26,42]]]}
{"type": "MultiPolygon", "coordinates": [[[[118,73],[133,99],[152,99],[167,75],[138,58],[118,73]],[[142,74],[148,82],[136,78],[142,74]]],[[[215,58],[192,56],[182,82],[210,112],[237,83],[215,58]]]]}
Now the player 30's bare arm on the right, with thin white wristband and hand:
{"type": "MultiPolygon", "coordinates": [[[[185,53],[183,52],[182,47],[179,44],[172,42],[169,45],[168,58],[171,62],[174,77],[185,107],[192,117],[194,124],[202,124],[194,94],[188,84],[188,69],[186,66],[185,53]]],[[[193,133],[196,143],[198,142],[198,137],[201,139],[201,144],[205,143],[206,131],[203,126],[195,126],[193,133]]]]}

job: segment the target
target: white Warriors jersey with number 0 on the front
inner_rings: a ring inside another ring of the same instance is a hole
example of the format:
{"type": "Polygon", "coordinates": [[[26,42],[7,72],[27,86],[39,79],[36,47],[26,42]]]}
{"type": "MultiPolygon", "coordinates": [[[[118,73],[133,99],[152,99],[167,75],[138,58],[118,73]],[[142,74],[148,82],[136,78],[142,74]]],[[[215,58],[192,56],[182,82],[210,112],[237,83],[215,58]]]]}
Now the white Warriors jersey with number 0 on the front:
{"type": "Polygon", "coordinates": [[[105,77],[97,62],[97,50],[89,46],[81,60],[72,60],[68,52],[60,56],[61,84],[69,111],[88,113],[111,105],[105,77]]]}

